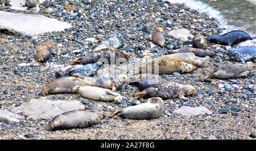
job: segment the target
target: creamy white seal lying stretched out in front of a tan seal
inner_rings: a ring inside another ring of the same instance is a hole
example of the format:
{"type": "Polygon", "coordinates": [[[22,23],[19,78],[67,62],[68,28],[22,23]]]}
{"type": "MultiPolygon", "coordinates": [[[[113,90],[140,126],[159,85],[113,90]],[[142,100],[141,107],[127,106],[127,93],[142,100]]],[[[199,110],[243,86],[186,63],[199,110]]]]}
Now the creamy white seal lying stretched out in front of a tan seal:
{"type": "Polygon", "coordinates": [[[109,89],[104,89],[96,86],[75,86],[73,93],[79,93],[82,97],[92,100],[103,100],[105,102],[114,101],[121,103],[122,96],[109,89]]]}

